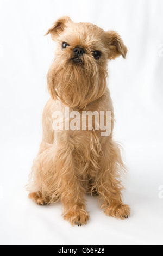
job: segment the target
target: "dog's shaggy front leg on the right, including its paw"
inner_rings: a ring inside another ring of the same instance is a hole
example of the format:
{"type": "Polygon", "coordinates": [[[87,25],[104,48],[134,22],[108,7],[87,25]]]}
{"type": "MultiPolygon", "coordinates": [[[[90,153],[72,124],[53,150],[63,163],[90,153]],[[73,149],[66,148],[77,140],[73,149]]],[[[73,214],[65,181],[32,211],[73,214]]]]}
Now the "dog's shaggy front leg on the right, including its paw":
{"type": "Polygon", "coordinates": [[[118,145],[107,138],[101,156],[101,174],[98,179],[98,192],[101,196],[101,208],[105,214],[116,218],[128,218],[130,208],[123,204],[120,171],[123,169],[118,145]]]}

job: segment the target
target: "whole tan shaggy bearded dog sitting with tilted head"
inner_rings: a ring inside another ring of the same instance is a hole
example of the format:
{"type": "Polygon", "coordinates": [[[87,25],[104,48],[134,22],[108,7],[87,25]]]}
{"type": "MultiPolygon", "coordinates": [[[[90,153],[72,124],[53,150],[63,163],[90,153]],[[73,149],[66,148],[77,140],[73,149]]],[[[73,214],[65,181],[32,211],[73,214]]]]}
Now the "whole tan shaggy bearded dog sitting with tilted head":
{"type": "Polygon", "coordinates": [[[61,200],[64,219],[72,225],[89,220],[86,194],[99,197],[107,216],[128,218],[120,179],[125,166],[120,146],[112,139],[114,108],[106,81],[108,61],[125,58],[127,47],[117,32],[74,23],[70,17],[58,19],[48,34],[57,48],[47,74],[51,99],[43,111],[43,137],[30,175],[29,198],[42,205],[61,200]],[[78,113],[111,112],[110,135],[101,136],[95,124],[92,130],[54,130],[53,113],[64,113],[65,107],[78,113]]]}

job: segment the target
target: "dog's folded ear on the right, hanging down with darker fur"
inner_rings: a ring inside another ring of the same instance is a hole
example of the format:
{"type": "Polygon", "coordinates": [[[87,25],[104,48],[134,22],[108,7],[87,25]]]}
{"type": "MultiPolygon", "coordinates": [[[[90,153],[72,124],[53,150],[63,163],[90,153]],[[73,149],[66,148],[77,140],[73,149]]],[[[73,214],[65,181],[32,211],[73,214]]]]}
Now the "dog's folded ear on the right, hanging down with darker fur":
{"type": "Polygon", "coordinates": [[[109,50],[108,59],[115,59],[120,55],[122,55],[124,59],[126,58],[127,47],[116,31],[106,31],[105,42],[109,50]]]}

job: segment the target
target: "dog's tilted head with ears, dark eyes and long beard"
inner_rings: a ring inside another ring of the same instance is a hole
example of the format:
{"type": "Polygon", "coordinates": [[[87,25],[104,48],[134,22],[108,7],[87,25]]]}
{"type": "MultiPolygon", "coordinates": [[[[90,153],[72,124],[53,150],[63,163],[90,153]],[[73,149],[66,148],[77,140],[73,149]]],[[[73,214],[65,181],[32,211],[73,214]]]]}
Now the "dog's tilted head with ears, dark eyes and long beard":
{"type": "Polygon", "coordinates": [[[65,105],[80,109],[99,99],[106,88],[108,60],[127,54],[120,35],[91,23],[74,23],[69,17],[57,20],[47,34],[57,42],[47,75],[53,99],[59,97],[65,105]]]}

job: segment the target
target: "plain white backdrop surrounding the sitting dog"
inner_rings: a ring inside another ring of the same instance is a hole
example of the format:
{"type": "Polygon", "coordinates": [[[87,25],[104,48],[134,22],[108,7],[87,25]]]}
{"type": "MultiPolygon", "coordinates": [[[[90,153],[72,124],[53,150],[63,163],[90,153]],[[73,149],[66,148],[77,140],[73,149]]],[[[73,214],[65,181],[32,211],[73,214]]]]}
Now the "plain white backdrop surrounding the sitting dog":
{"type": "Polygon", "coordinates": [[[162,9],[161,0],[0,0],[1,244],[163,244],[162,9]],[[71,227],[60,203],[37,206],[27,198],[24,185],[41,142],[54,57],[54,43],[43,35],[63,15],[115,29],[129,50],[126,60],[109,63],[115,139],[123,143],[128,167],[126,221],[106,217],[98,199],[87,197],[90,221],[71,227]]]}

